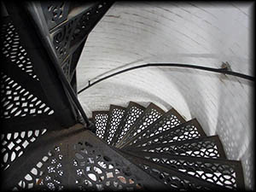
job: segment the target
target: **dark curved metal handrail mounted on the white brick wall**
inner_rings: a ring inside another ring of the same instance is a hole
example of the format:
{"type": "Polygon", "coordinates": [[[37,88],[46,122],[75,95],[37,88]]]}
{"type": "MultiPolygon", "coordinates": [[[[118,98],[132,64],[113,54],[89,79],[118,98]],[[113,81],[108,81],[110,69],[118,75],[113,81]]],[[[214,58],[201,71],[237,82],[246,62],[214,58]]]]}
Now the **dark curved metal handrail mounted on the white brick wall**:
{"type": "Polygon", "coordinates": [[[116,73],[112,73],[106,77],[103,77],[102,79],[98,79],[95,82],[91,83],[89,82],[89,84],[87,86],[85,86],[83,89],[78,91],[78,94],[80,94],[81,92],[83,92],[84,90],[87,90],[88,88],[90,88],[92,85],[94,84],[98,84],[100,82],[102,82],[103,80],[109,79],[113,76],[119,75],[121,73],[126,73],[129,71],[133,71],[139,68],[145,68],[145,67],[183,67],[183,68],[194,68],[194,69],[199,69],[199,70],[203,70],[203,71],[208,71],[208,72],[213,72],[213,73],[223,73],[223,74],[228,74],[231,76],[235,76],[241,79],[247,79],[250,81],[254,82],[254,77],[253,76],[249,76],[243,73],[237,73],[237,72],[232,72],[229,71],[227,68],[212,68],[212,67],[202,67],[202,66],[196,66],[196,65],[192,65],[192,64],[183,64],[183,63],[148,63],[148,64],[143,64],[143,65],[139,65],[136,67],[129,67],[129,68],[125,68],[123,70],[120,70],[119,72],[116,73]]]}

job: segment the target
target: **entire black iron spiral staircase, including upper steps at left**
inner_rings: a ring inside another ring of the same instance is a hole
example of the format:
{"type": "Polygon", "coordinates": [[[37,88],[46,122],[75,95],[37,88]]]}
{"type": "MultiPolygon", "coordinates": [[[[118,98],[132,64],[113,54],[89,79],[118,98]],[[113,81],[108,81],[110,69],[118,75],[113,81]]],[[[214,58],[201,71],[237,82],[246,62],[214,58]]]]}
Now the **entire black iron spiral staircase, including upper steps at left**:
{"type": "Polygon", "coordinates": [[[218,136],[174,108],[129,102],[84,117],[76,65],[110,6],[6,3],[1,189],[244,189],[241,162],[228,160],[218,136]]]}

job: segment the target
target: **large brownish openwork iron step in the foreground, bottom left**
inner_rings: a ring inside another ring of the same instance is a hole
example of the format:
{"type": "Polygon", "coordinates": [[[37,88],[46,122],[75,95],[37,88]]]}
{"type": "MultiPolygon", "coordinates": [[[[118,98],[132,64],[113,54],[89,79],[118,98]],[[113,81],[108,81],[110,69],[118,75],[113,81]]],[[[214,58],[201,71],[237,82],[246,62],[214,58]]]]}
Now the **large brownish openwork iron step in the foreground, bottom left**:
{"type": "MultiPolygon", "coordinates": [[[[14,179],[16,184],[6,186],[12,186],[12,189],[55,190],[165,189],[162,183],[134,166],[84,127],[48,133],[36,145],[38,150],[27,154],[26,162],[22,163],[30,162],[26,166],[29,171],[22,170],[22,166],[17,167],[16,171],[22,172],[14,179]],[[44,145],[49,139],[50,143],[44,145]],[[37,155],[37,160],[33,159],[34,155],[37,155]]],[[[9,175],[9,182],[12,176],[9,175]]]]}

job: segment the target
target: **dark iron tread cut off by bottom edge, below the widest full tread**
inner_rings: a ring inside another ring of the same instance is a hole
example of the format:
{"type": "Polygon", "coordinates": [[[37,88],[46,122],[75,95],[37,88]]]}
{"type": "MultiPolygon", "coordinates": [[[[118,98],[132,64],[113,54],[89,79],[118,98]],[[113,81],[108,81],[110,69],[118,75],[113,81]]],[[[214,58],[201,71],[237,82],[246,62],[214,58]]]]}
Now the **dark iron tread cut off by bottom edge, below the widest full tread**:
{"type": "Polygon", "coordinates": [[[158,179],[160,182],[165,183],[169,189],[174,190],[224,190],[225,188],[214,183],[207,182],[199,177],[185,175],[170,166],[166,166],[137,155],[129,154],[125,150],[119,149],[127,160],[133,164],[141,167],[151,177],[158,179]]]}

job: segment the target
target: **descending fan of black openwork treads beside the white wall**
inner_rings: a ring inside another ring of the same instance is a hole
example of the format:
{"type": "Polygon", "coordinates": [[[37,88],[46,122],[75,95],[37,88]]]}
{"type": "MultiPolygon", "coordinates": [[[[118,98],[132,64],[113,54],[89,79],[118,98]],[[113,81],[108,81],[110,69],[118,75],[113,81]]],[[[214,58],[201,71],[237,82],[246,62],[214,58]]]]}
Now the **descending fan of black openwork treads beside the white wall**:
{"type": "MultiPolygon", "coordinates": [[[[207,137],[196,119],[185,121],[174,108],[165,112],[154,103],[144,108],[129,102],[92,116],[96,137],[147,174],[156,188],[244,188],[240,161],[227,160],[218,136],[207,137]]],[[[133,180],[137,174],[132,172],[133,180]]],[[[120,182],[129,184],[123,176],[120,182]]],[[[135,189],[153,187],[145,179],[134,181],[135,189]]]]}

